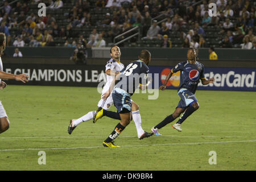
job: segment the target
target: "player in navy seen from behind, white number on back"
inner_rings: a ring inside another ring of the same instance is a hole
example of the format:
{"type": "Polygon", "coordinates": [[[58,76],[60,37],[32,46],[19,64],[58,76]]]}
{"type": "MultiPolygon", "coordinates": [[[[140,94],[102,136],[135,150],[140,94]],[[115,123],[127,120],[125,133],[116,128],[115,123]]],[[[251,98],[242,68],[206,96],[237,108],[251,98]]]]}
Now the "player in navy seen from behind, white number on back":
{"type": "Polygon", "coordinates": [[[138,87],[142,90],[150,83],[147,81],[151,54],[147,50],[142,50],[139,60],[133,61],[119,73],[112,81],[108,92],[102,98],[106,99],[112,94],[114,106],[120,115],[121,121],[115,126],[115,129],[103,142],[105,147],[119,147],[113,143],[113,140],[129,125],[131,121],[131,96],[138,87]],[[112,92],[113,91],[113,92],[112,92]]]}

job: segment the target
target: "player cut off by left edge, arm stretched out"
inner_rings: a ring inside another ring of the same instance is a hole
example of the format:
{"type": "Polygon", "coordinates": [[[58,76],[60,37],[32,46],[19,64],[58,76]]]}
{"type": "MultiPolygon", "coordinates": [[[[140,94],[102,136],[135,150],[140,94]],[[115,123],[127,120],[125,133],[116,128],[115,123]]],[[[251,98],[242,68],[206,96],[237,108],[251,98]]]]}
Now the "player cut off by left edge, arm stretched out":
{"type": "MultiPolygon", "coordinates": [[[[0,33],[0,90],[4,89],[7,85],[5,82],[1,80],[3,79],[15,79],[17,81],[27,82],[28,76],[25,74],[20,75],[13,75],[9,73],[3,72],[3,63],[2,63],[2,53],[5,51],[5,45],[6,45],[6,37],[5,34],[0,33]]],[[[10,127],[10,122],[7,117],[6,111],[3,108],[2,102],[0,101],[0,133],[3,133],[4,131],[8,130],[10,127]]]]}

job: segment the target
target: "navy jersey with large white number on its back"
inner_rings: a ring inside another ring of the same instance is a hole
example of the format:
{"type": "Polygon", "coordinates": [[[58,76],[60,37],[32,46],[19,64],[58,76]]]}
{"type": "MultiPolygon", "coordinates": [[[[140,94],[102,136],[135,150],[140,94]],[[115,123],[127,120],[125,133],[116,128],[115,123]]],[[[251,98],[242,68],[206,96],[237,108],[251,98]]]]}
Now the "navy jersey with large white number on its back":
{"type": "Polygon", "coordinates": [[[125,90],[132,96],[139,84],[146,85],[148,71],[146,63],[141,60],[133,61],[121,71],[121,77],[115,87],[125,90]]]}

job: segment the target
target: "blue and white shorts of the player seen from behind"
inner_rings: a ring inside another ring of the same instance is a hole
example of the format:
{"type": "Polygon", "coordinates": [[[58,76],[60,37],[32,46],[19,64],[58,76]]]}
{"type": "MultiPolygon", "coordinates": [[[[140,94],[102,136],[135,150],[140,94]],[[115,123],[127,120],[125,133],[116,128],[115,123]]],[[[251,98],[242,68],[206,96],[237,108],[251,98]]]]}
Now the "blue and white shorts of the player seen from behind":
{"type": "Polygon", "coordinates": [[[131,95],[125,90],[120,88],[114,88],[112,93],[114,106],[117,108],[118,113],[130,113],[131,112],[131,95]]]}

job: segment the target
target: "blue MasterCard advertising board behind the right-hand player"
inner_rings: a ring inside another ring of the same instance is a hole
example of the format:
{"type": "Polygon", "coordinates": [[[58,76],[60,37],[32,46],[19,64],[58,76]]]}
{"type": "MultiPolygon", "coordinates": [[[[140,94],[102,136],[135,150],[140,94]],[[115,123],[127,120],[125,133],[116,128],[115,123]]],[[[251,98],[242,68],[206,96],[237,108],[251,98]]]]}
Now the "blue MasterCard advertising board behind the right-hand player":
{"type": "MultiPolygon", "coordinates": [[[[173,67],[150,67],[150,73],[159,73],[159,84],[163,84],[173,67]]],[[[209,85],[199,83],[199,90],[243,90],[256,91],[256,70],[253,68],[205,68],[205,78],[214,78],[209,85]]],[[[167,89],[179,87],[180,72],[174,73],[167,83],[167,89]]]]}

